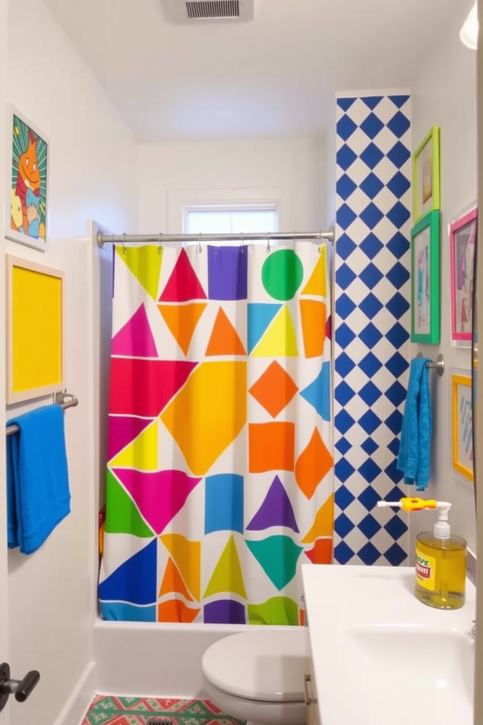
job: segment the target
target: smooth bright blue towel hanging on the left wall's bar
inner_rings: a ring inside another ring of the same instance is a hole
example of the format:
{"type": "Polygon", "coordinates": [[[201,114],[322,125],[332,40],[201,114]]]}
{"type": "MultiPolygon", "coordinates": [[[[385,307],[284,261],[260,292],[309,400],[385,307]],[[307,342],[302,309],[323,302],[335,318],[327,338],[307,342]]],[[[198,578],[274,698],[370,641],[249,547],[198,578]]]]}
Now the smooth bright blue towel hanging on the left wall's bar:
{"type": "Polygon", "coordinates": [[[7,426],[7,517],[9,549],[33,554],[70,513],[64,412],[46,405],[18,415],[7,426]]]}

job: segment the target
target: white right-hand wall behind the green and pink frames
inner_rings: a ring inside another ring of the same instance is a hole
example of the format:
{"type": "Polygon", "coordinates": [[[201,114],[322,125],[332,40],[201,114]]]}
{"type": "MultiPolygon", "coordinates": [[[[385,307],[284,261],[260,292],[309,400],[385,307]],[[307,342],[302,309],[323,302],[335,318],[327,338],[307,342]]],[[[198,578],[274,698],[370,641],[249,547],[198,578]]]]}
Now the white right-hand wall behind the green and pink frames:
{"type": "MultiPolygon", "coordinates": [[[[434,445],[432,483],[428,497],[453,504],[451,526],[455,534],[476,548],[474,492],[450,473],[450,368],[471,369],[469,349],[450,344],[450,244],[448,224],[468,204],[476,202],[476,53],[459,40],[459,31],[471,1],[461,3],[445,33],[437,36],[411,88],[413,152],[432,125],[441,127],[441,345],[412,345],[427,357],[442,352],[446,370],[432,374],[434,445]],[[468,6],[468,7],[466,7],[468,6]]],[[[418,531],[432,528],[434,515],[411,518],[411,547],[418,531]]]]}

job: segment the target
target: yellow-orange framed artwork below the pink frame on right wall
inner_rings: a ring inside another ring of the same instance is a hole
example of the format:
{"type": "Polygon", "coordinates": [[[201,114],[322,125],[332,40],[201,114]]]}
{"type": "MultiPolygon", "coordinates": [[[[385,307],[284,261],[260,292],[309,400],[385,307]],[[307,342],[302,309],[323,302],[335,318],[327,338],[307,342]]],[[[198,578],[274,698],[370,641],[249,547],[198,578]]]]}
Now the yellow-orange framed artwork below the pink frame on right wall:
{"type": "Polygon", "coordinates": [[[453,473],[474,483],[473,398],[471,375],[451,373],[451,423],[453,473]]]}

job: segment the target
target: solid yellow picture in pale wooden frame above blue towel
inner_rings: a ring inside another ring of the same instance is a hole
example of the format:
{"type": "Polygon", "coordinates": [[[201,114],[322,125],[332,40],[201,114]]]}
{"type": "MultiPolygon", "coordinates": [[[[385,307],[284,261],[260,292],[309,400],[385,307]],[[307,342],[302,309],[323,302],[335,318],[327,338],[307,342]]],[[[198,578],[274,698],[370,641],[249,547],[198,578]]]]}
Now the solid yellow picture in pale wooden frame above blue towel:
{"type": "Polygon", "coordinates": [[[7,405],[64,389],[64,272],[7,254],[7,405]]]}

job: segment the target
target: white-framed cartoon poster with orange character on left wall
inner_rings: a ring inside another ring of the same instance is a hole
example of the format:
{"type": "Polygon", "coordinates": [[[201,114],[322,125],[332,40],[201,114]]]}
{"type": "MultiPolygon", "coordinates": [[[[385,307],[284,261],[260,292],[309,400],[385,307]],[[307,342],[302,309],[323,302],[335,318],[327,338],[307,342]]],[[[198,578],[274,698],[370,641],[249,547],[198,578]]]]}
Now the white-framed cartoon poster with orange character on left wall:
{"type": "Polygon", "coordinates": [[[5,236],[45,252],[49,249],[49,139],[9,106],[7,117],[5,236]]]}

